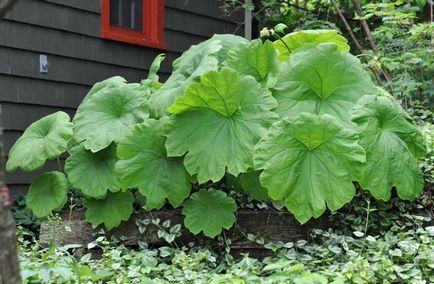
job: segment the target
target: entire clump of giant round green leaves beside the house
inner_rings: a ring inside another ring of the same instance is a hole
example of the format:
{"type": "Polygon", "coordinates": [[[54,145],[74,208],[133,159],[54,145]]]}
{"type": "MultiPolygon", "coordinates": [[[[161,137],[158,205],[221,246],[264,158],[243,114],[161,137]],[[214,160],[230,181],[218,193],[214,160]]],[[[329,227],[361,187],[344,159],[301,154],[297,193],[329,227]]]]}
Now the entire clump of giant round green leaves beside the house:
{"type": "Polygon", "coordinates": [[[138,189],[145,210],[184,206],[186,227],[215,237],[235,222],[230,175],[253,197],[283,201],[301,223],[351,201],[357,182],[383,200],[392,187],[404,199],[422,190],[422,134],[336,32],[274,43],[216,35],[178,58],[164,84],[161,60],[141,84],[95,84],[72,123],[56,113],[19,138],[9,170],[69,153],[66,176],[32,184],[28,206],[38,216],[60,209],[73,188],[86,219],[112,229],[130,217],[138,189]],[[401,175],[403,163],[410,170],[401,175]]]}

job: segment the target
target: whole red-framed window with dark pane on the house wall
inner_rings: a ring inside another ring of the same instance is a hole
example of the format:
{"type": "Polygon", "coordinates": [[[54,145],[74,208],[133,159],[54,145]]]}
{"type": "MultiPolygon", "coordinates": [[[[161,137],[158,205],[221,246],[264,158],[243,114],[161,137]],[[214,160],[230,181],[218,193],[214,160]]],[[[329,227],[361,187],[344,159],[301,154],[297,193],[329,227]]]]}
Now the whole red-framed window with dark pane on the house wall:
{"type": "Polygon", "coordinates": [[[103,38],[166,49],[163,0],[102,0],[103,38]]]}

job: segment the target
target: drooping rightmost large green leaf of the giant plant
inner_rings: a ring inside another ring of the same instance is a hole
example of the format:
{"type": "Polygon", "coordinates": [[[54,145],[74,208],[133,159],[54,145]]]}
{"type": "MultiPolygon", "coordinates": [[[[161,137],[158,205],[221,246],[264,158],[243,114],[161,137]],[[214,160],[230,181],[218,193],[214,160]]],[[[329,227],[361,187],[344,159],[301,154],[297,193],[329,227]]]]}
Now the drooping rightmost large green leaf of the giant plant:
{"type": "Polygon", "coordinates": [[[391,97],[366,96],[354,107],[360,144],[366,149],[366,172],[362,188],[384,201],[392,187],[403,199],[414,199],[423,190],[417,162],[426,148],[419,129],[391,97]]]}

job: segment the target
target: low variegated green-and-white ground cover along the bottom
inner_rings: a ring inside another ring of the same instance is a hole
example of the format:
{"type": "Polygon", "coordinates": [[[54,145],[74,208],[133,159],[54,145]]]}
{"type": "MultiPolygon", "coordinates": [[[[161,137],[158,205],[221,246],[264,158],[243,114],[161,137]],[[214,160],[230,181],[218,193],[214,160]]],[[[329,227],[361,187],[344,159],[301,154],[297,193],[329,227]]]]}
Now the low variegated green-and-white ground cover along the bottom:
{"type": "MultiPolygon", "coordinates": [[[[372,207],[372,217],[386,215],[397,223],[380,225],[379,231],[365,235],[347,225],[365,223],[365,208],[356,206],[335,216],[335,229],[312,230],[309,241],[265,243],[262,246],[271,255],[263,260],[248,255],[234,259],[201,247],[132,250],[104,237],[87,245],[101,248],[100,258],[86,254],[77,259],[71,251],[80,245],[41,248],[24,240],[19,231],[22,277],[24,283],[433,282],[434,227],[424,227],[420,216],[409,214],[410,204],[403,207],[398,212],[372,207]]],[[[174,228],[154,220],[142,221],[149,223],[145,226],[155,222],[164,230],[174,228]]],[[[369,224],[380,223],[372,219],[369,224]]]]}

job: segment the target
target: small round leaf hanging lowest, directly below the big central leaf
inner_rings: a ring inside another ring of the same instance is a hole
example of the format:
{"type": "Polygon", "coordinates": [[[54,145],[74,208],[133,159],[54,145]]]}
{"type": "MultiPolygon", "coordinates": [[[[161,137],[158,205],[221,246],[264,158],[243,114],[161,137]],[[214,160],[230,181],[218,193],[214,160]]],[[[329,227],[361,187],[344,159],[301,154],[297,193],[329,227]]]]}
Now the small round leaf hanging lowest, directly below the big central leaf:
{"type": "Polygon", "coordinates": [[[182,214],[184,224],[193,234],[203,231],[205,236],[214,238],[224,229],[230,229],[235,222],[235,200],[221,190],[201,189],[185,202],[182,214]]]}

